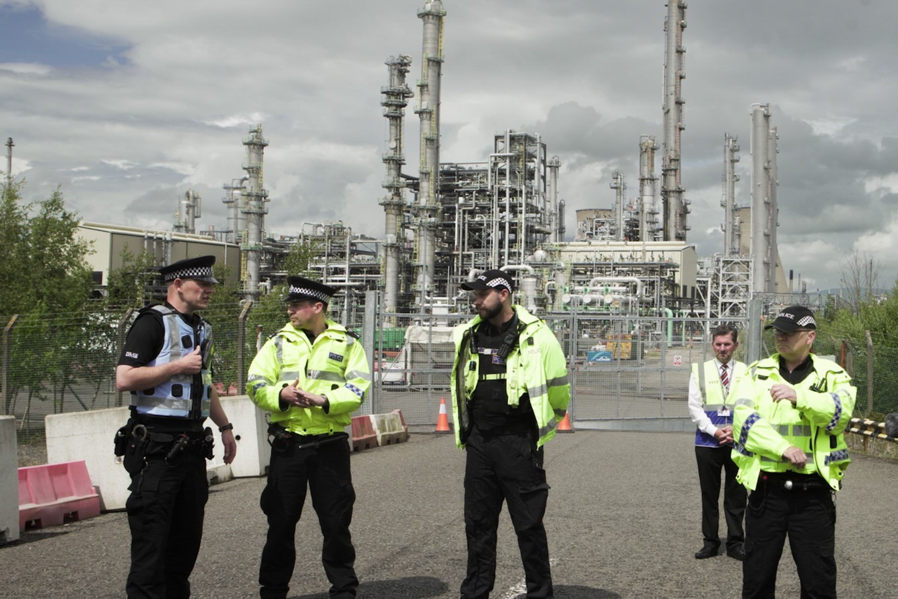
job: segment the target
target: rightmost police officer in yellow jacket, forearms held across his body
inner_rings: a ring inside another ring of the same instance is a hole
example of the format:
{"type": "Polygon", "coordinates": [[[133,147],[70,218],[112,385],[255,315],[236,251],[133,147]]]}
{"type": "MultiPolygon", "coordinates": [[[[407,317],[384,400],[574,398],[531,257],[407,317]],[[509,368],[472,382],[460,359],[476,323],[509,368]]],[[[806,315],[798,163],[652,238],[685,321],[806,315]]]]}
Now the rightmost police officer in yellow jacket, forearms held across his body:
{"type": "Polygon", "coordinates": [[[814,313],[785,308],[773,329],[777,353],[736,381],[733,460],[751,495],[745,515],[742,596],[776,593],[788,534],[801,596],[836,596],[834,491],[850,459],[844,430],[857,390],[835,362],[814,356],[814,313]]]}

